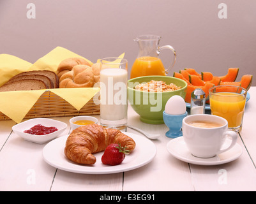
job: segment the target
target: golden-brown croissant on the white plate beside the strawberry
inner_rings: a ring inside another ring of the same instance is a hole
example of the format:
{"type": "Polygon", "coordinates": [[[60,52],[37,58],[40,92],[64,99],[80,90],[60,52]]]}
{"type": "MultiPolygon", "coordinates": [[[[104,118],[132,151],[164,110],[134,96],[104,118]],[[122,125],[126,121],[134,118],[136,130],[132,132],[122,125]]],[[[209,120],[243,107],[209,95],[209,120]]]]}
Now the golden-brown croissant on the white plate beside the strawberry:
{"type": "Polygon", "coordinates": [[[64,154],[68,159],[79,164],[94,164],[96,152],[102,152],[111,143],[119,143],[132,151],[135,142],[117,129],[106,129],[98,124],[89,124],[74,129],[66,140],[64,154]]]}

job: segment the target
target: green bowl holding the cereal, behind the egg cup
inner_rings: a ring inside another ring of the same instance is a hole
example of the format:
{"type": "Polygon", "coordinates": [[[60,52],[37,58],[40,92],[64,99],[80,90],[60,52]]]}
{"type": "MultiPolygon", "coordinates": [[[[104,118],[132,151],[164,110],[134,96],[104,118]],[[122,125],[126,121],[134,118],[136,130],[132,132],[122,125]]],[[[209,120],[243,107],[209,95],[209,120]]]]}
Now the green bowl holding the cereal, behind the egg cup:
{"type": "Polygon", "coordinates": [[[147,124],[164,124],[163,111],[165,104],[170,97],[179,95],[183,99],[186,96],[186,87],[188,84],[179,78],[168,76],[147,76],[137,77],[128,80],[128,100],[133,110],[140,115],[140,120],[147,124]],[[145,92],[137,91],[134,87],[143,82],[151,80],[163,81],[166,84],[173,83],[181,89],[169,92],[145,92]]]}

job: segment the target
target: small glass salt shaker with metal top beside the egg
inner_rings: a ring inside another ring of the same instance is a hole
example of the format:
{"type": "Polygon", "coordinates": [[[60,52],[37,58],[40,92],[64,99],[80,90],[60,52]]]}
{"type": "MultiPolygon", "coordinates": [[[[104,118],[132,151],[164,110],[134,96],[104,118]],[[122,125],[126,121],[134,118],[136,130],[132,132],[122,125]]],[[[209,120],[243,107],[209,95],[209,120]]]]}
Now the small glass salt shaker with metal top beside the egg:
{"type": "Polygon", "coordinates": [[[204,114],[206,107],[206,93],[202,89],[195,89],[191,94],[190,115],[204,114]]]}

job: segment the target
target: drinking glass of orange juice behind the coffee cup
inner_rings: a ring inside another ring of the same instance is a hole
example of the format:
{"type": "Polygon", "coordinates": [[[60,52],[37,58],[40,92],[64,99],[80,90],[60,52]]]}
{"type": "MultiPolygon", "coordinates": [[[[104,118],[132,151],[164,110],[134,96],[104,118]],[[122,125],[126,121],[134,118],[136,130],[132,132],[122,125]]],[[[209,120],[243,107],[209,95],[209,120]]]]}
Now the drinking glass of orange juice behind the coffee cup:
{"type": "Polygon", "coordinates": [[[209,89],[211,114],[228,121],[229,130],[242,130],[246,89],[234,85],[217,85],[209,89]]]}

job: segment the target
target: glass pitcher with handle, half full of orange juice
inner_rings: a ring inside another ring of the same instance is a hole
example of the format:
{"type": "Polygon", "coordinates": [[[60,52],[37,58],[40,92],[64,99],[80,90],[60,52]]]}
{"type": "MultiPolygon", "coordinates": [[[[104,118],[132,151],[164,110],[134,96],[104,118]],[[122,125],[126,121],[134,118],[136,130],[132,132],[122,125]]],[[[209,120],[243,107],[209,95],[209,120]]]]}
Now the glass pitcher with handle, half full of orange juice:
{"type": "Polygon", "coordinates": [[[160,40],[161,36],[154,35],[144,35],[134,39],[139,44],[139,54],[133,63],[130,78],[150,75],[165,76],[169,73],[176,62],[176,51],[170,45],[160,47],[160,40]],[[172,50],[174,54],[174,59],[168,69],[164,68],[161,59],[158,57],[160,52],[165,49],[172,50]]]}

